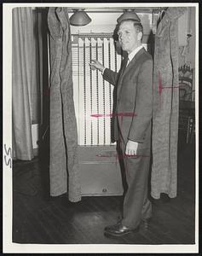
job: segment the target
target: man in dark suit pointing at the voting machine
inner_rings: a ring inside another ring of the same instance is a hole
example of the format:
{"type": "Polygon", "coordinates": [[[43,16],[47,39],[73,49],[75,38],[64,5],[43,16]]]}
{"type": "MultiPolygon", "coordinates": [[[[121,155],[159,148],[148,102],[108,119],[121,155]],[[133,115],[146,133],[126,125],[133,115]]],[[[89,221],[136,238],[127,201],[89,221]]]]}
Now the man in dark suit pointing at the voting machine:
{"type": "Polygon", "coordinates": [[[118,73],[105,68],[99,61],[90,66],[102,72],[103,78],[117,86],[114,134],[124,157],[127,191],[124,196],[123,218],[107,226],[105,233],[124,236],[139,230],[141,221],[152,216],[147,199],[150,162],[151,121],[153,115],[153,60],[141,45],[143,27],[134,13],[128,20],[119,20],[118,41],[127,52],[118,73]]]}

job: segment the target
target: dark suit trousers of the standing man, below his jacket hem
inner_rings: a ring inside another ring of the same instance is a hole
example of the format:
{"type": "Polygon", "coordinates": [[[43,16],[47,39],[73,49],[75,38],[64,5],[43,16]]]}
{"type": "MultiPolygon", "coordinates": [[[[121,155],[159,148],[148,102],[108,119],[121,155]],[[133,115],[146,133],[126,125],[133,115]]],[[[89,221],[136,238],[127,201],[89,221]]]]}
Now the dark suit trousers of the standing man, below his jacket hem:
{"type": "Polygon", "coordinates": [[[119,137],[119,145],[124,159],[124,176],[127,190],[124,195],[122,224],[136,229],[142,219],[151,218],[152,204],[147,198],[150,166],[150,148],[138,149],[136,156],[124,154],[125,143],[119,137]]]}

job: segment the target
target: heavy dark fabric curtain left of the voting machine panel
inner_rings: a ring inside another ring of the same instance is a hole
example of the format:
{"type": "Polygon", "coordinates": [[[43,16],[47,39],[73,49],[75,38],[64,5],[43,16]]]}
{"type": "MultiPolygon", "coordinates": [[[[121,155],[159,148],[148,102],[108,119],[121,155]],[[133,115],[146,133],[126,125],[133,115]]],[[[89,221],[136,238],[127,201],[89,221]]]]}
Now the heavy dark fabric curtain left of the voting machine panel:
{"type": "Polygon", "coordinates": [[[72,43],[67,8],[49,8],[50,195],[80,201],[78,135],[72,89],[72,43]]]}

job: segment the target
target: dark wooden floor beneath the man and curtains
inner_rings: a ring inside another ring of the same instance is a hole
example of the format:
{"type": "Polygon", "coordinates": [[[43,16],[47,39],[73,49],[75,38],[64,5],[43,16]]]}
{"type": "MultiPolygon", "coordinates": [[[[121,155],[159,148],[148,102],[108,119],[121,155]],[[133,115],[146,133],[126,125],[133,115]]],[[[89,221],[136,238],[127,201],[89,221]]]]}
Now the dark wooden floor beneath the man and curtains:
{"type": "Polygon", "coordinates": [[[47,194],[46,166],[38,158],[14,161],[13,241],[37,244],[193,244],[194,145],[179,146],[178,195],[153,200],[149,228],[120,238],[103,235],[119,216],[122,196],[83,197],[78,203],[47,194]]]}

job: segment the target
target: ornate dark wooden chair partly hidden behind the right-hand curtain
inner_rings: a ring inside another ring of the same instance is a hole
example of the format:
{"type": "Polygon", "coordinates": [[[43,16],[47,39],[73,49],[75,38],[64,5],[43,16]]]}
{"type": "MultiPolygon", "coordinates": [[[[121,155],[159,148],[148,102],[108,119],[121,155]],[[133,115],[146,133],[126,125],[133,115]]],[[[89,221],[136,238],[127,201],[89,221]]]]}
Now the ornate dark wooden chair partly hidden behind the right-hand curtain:
{"type": "Polygon", "coordinates": [[[179,131],[186,133],[186,143],[193,143],[195,108],[193,101],[193,68],[179,67],[179,131]]]}

